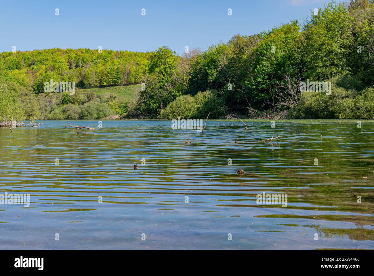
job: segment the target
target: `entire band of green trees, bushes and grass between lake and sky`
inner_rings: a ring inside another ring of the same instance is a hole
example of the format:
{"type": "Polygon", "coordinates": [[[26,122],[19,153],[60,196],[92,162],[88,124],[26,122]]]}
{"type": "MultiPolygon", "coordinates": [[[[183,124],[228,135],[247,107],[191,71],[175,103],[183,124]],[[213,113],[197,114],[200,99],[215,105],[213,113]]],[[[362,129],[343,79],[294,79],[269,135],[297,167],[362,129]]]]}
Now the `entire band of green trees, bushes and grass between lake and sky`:
{"type": "Polygon", "coordinates": [[[303,24],[235,34],[181,55],[167,46],[0,53],[0,126],[208,114],[242,122],[374,120],[373,1],[330,1],[303,24]]]}

